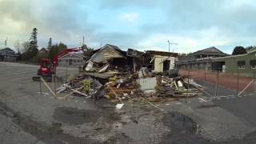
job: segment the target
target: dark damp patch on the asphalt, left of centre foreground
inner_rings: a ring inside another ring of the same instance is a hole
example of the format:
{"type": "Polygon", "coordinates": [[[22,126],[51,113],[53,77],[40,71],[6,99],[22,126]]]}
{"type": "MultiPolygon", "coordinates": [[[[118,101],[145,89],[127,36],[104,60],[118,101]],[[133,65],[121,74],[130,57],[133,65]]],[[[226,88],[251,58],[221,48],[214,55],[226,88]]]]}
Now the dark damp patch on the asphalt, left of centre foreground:
{"type": "Polygon", "coordinates": [[[70,125],[97,122],[101,115],[102,113],[96,110],[78,110],[74,107],[58,107],[54,111],[54,119],[70,125]]]}

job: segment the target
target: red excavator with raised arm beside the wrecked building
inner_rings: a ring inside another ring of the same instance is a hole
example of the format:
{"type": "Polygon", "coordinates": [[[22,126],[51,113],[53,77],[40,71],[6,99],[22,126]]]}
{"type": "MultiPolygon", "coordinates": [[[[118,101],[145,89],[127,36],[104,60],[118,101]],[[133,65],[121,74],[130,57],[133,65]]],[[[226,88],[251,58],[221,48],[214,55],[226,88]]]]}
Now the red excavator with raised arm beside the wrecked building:
{"type": "Polygon", "coordinates": [[[38,76],[34,76],[32,79],[34,81],[39,81],[40,77],[50,79],[52,74],[56,74],[56,67],[58,66],[58,58],[61,58],[63,55],[69,54],[70,52],[78,52],[84,51],[82,47],[78,48],[70,48],[64,49],[60,53],[56,54],[51,61],[48,58],[41,58],[39,60],[39,69],[38,69],[38,76]]]}

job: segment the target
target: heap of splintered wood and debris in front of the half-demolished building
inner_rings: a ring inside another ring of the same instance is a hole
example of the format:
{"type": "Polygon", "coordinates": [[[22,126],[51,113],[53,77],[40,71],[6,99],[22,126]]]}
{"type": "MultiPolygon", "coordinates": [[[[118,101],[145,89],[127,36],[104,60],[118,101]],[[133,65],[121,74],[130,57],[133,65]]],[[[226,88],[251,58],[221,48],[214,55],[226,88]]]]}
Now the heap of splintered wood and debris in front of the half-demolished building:
{"type": "Polygon", "coordinates": [[[57,92],[69,92],[85,98],[108,98],[112,102],[173,101],[178,98],[193,97],[201,94],[202,86],[188,78],[169,78],[149,72],[146,69],[135,73],[90,73],[81,72],[64,83],[57,92]]]}

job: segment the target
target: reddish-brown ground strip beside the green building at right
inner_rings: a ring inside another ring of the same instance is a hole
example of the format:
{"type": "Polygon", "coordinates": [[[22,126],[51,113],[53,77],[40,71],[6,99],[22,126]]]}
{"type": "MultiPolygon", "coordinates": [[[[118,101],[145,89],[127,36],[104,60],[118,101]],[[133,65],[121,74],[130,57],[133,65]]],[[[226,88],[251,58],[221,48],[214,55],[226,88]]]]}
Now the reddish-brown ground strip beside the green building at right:
{"type": "Polygon", "coordinates": [[[218,90],[220,86],[232,90],[236,96],[254,94],[256,90],[255,74],[254,77],[245,77],[240,69],[237,74],[227,74],[221,70],[179,70],[179,74],[190,75],[194,80],[210,82],[213,85],[210,87],[212,97],[223,95],[222,91],[218,90]]]}

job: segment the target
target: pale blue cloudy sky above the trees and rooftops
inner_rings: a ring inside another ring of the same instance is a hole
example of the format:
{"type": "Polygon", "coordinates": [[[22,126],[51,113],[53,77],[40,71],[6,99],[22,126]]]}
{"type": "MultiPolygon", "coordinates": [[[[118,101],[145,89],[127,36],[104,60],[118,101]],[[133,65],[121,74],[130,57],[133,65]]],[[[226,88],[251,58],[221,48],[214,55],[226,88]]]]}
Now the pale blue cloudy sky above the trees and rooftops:
{"type": "Polygon", "coordinates": [[[94,49],[107,43],[122,50],[190,53],[215,46],[256,43],[254,0],[0,0],[0,48],[26,42],[34,27],[39,48],[64,42],[94,49]]]}

